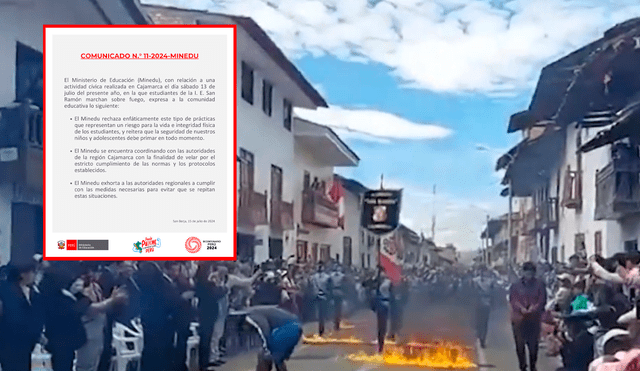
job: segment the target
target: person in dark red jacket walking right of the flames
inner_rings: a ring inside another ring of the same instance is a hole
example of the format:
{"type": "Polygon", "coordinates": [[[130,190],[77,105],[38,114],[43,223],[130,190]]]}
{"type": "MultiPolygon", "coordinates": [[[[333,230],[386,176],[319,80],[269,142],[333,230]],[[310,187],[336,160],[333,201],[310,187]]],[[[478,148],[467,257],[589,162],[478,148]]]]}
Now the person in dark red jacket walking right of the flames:
{"type": "Polygon", "coordinates": [[[529,370],[536,371],[542,313],[547,302],[544,284],[536,278],[536,266],[526,262],[522,278],[509,289],[511,323],[520,371],[527,371],[525,346],[529,350],[529,370]]]}

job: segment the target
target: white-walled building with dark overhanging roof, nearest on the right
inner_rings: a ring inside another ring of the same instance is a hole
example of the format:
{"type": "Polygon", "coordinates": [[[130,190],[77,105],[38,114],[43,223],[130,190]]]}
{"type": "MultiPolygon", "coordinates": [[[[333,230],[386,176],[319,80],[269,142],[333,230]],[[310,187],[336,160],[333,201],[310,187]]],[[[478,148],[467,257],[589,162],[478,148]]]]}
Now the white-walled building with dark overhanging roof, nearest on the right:
{"type": "Polygon", "coordinates": [[[534,239],[519,244],[520,258],[637,250],[638,141],[619,128],[638,124],[638,40],[640,19],[632,19],[548,65],[529,109],[511,117],[509,132],[523,140],[498,169],[514,197],[532,201],[522,235],[534,239]]]}

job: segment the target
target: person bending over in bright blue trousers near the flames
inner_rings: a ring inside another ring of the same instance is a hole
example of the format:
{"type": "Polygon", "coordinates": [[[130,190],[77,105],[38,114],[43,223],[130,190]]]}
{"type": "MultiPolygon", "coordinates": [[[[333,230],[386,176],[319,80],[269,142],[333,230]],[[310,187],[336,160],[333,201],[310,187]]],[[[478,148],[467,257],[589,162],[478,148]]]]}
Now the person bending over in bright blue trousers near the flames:
{"type": "Polygon", "coordinates": [[[271,371],[275,365],[276,371],[287,371],[285,361],[302,337],[298,317],[275,306],[250,307],[247,312],[246,323],[258,331],[263,342],[256,370],[271,371]]]}

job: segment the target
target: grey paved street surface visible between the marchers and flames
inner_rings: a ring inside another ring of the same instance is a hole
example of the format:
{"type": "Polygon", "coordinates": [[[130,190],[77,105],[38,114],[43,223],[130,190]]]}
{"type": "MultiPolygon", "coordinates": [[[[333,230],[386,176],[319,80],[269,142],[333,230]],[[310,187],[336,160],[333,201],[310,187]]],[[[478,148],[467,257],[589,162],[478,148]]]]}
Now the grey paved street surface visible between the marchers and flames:
{"type": "MultiPolygon", "coordinates": [[[[409,337],[420,342],[450,340],[459,344],[471,345],[473,361],[481,366],[480,370],[517,371],[518,364],[513,346],[513,336],[504,304],[492,312],[487,348],[477,346],[473,327],[473,310],[470,304],[450,301],[441,304],[414,303],[414,310],[407,313],[405,330],[409,337]],[[420,310],[419,310],[420,309],[420,310]]],[[[339,337],[351,335],[359,338],[375,339],[375,316],[371,311],[361,311],[348,323],[355,328],[341,331],[339,337]]],[[[317,329],[317,324],[305,326],[305,334],[311,335],[317,329]]],[[[338,337],[337,335],[330,335],[338,337]]],[[[360,350],[372,353],[371,346],[347,345],[308,345],[301,344],[288,362],[290,371],[338,371],[338,370],[415,370],[416,367],[389,366],[354,363],[346,359],[350,353],[360,350]]],[[[219,368],[220,371],[251,371],[255,370],[255,352],[243,354],[228,360],[219,368]]],[[[553,371],[559,367],[558,360],[544,356],[544,349],[540,351],[538,370],[553,371]]]]}

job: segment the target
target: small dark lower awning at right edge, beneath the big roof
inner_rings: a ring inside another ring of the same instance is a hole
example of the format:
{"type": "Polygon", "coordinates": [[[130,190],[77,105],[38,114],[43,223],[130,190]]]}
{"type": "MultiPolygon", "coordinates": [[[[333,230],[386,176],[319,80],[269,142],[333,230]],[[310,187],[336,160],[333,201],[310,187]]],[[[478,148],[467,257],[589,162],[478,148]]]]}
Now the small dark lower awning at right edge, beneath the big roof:
{"type": "Polygon", "coordinates": [[[615,115],[613,126],[599,132],[595,138],[585,143],[580,150],[590,152],[620,139],[640,138],[640,99],[635,100],[615,115]]]}

